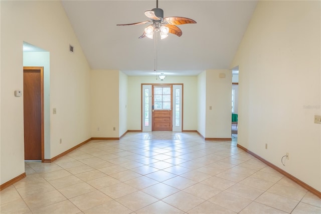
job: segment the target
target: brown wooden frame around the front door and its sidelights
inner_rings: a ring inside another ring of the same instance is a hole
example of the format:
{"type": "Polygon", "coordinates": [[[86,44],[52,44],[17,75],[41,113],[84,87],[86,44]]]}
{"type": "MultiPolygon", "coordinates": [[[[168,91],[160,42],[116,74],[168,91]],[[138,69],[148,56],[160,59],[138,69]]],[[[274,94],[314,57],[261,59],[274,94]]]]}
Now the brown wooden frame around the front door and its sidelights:
{"type": "MultiPolygon", "coordinates": [[[[182,117],[181,117],[181,126],[182,126],[182,132],[184,132],[184,129],[183,129],[183,111],[184,111],[184,84],[183,83],[168,83],[168,84],[164,84],[164,83],[141,83],[141,85],[140,85],[140,131],[142,132],[143,131],[143,113],[144,113],[144,111],[143,111],[143,108],[144,108],[144,106],[143,106],[143,100],[144,100],[144,93],[143,93],[143,89],[145,88],[145,85],[150,85],[150,89],[152,90],[152,86],[153,85],[155,85],[155,86],[167,86],[167,85],[172,85],[172,90],[173,90],[173,88],[174,88],[174,85],[182,85],[182,117]]],[[[172,97],[173,97],[173,91],[172,91],[172,97]]],[[[151,97],[152,98],[152,97],[151,97]]],[[[173,103],[174,101],[172,101],[172,109],[173,109],[173,106],[174,106],[174,103],[173,103]]],[[[150,110],[151,110],[151,100],[150,100],[150,110]]],[[[151,112],[151,111],[150,111],[151,112]]],[[[174,118],[174,111],[172,111],[172,117],[174,118]]],[[[150,117],[151,118],[151,117],[150,117]]],[[[150,119],[150,120],[152,120],[152,119],[150,119]]],[[[151,123],[152,123],[152,121],[150,121],[151,123]]],[[[173,125],[174,126],[174,125],[173,125]]],[[[151,127],[150,127],[150,130],[151,130],[151,127]]]]}

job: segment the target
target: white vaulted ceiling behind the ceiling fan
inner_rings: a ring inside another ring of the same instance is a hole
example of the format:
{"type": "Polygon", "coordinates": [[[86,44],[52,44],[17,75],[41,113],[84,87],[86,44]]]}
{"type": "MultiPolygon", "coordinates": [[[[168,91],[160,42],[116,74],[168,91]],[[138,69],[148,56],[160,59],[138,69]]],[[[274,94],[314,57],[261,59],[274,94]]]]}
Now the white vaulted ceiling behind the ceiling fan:
{"type": "MultiPolygon", "coordinates": [[[[127,75],[154,74],[154,42],[138,39],[148,25],[144,12],[156,1],[62,1],[92,69],[116,69],[127,75]]],[[[228,69],[256,6],[256,1],[162,1],[164,17],[197,24],[180,25],[183,35],[157,42],[157,70],[165,75],[197,75],[228,69]]],[[[71,44],[73,45],[73,44],[71,44]]],[[[77,51],[77,47],[75,47],[77,51]]]]}

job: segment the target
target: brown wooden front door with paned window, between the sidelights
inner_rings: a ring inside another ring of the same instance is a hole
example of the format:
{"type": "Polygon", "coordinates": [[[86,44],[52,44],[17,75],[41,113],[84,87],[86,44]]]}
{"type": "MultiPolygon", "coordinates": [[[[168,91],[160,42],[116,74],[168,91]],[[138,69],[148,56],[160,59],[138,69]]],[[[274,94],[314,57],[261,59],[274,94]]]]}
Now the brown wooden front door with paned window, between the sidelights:
{"type": "Polygon", "coordinates": [[[151,131],[173,131],[172,85],[152,86],[151,131]]]}

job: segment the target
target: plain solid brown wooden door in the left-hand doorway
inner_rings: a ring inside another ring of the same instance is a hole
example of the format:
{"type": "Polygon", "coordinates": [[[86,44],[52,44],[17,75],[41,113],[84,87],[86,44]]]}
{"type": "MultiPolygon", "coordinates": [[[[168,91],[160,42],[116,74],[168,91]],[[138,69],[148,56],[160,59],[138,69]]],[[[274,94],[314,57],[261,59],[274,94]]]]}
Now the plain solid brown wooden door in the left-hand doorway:
{"type": "Polygon", "coordinates": [[[25,160],[44,161],[43,67],[24,67],[25,160]]]}

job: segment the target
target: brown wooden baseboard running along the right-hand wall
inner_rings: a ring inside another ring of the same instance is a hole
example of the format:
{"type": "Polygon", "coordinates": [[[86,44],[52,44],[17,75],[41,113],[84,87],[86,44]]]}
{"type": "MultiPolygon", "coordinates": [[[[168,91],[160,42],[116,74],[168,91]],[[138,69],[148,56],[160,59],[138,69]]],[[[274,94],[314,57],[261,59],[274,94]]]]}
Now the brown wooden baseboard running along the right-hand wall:
{"type": "Polygon", "coordinates": [[[302,186],[304,189],[310,191],[311,193],[315,194],[316,196],[318,196],[319,198],[321,198],[321,192],[319,192],[318,190],[314,189],[313,187],[309,186],[308,184],[304,183],[303,181],[299,180],[298,178],[294,177],[293,175],[287,173],[286,171],[284,171],[283,169],[275,166],[274,164],[270,163],[269,161],[265,160],[264,158],[260,157],[259,155],[255,154],[254,152],[251,152],[250,150],[248,150],[247,148],[237,144],[237,147],[239,147],[240,149],[244,150],[245,152],[249,153],[250,155],[256,157],[257,159],[259,159],[260,161],[262,161],[263,163],[265,163],[266,165],[268,165],[269,167],[271,167],[272,169],[278,171],[279,173],[281,173],[282,175],[284,175],[285,177],[289,178],[290,180],[294,181],[295,183],[297,183],[298,185],[302,186]]]}

